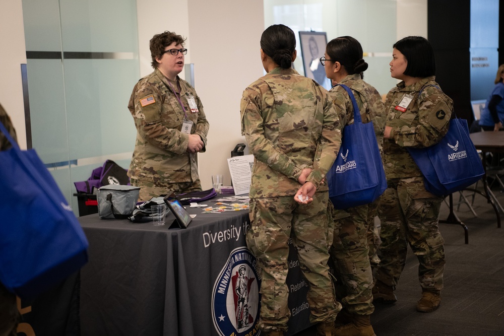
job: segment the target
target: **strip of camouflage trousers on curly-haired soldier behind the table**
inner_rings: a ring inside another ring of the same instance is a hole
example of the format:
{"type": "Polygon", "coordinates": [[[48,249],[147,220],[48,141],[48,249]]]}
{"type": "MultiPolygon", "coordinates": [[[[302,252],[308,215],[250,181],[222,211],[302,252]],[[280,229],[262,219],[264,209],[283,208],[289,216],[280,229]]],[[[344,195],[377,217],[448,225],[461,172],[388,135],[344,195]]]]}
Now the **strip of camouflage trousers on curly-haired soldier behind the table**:
{"type": "Polygon", "coordinates": [[[131,185],[140,187],[140,195],[138,197],[139,202],[145,202],[152,197],[168,195],[172,192],[182,193],[201,190],[201,182],[199,179],[195,182],[162,183],[132,178],[130,183],[131,185]]]}

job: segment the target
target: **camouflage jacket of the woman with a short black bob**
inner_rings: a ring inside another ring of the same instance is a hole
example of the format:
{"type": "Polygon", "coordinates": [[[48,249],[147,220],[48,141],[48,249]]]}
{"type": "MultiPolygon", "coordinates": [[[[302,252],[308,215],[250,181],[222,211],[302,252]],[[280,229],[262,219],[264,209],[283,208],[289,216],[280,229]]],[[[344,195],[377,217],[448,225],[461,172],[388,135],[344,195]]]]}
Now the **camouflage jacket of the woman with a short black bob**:
{"type": "Polygon", "coordinates": [[[387,126],[392,127],[390,139],[383,144],[387,179],[422,176],[406,147],[429,147],[446,135],[453,111],[452,99],[430,76],[410,86],[399,83],[387,94],[385,108],[387,126]],[[407,94],[413,99],[406,111],[401,112],[396,106],[407,94]]]}

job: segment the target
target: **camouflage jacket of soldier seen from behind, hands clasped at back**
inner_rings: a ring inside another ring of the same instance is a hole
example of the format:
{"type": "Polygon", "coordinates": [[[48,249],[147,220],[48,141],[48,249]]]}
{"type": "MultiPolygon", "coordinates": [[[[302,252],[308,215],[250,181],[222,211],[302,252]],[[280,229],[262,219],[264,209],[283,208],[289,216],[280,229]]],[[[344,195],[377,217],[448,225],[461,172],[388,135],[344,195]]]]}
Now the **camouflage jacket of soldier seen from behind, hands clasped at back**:
{"type": "Polygon", "coordinates": [[[254,168],[250,197],[294,195],[302,169],[319,190],[341,144],[338,113],[326,89],[293,69],[276,68],[243,92],[241,133],[254,168]]]}

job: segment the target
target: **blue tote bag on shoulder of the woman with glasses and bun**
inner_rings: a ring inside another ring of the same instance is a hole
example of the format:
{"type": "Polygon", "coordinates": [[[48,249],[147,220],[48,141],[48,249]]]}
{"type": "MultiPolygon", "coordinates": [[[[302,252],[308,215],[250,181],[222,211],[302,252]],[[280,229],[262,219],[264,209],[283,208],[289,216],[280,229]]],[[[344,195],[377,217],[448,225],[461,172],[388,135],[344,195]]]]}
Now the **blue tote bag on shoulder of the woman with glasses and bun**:
{"type": "Polygon", "coordinates": [[[341,148],[327,173],[327,183],[334,208],[348,209],[380,197],[387,189],[387,178],[372,122],[362,123],[352,91],[346,85],[341,87],[352,100],[354,122],[343,128],[341,148]]]}

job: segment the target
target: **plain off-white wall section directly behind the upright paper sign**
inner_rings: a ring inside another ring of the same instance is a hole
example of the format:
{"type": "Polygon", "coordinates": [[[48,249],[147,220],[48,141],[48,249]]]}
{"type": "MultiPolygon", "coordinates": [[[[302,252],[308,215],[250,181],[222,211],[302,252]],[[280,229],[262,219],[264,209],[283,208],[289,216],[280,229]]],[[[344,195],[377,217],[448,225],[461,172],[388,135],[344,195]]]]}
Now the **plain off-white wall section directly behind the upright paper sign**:
{"type": "Polygon", "coordinates": [[[200,178],[203,189],[212,187],[212,174],[224,174],[224,185],[230,185],[227,158],[245,143],[241,95],[263,76],[263,2],[188,0],[188,9],[195,87],[210,122],[207,151],[198,156],[200,178]]]}

